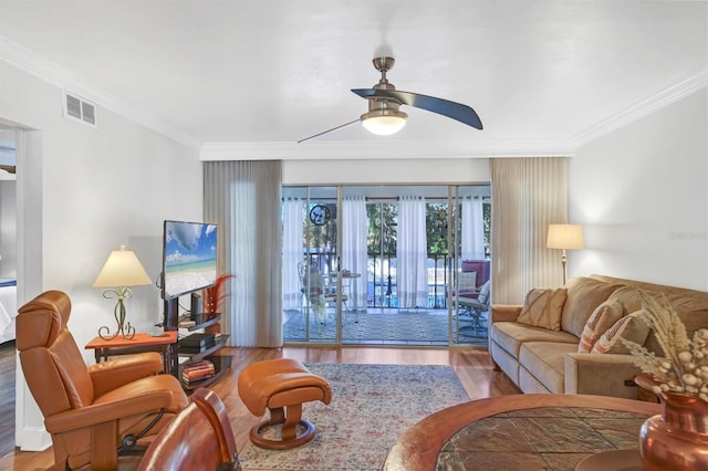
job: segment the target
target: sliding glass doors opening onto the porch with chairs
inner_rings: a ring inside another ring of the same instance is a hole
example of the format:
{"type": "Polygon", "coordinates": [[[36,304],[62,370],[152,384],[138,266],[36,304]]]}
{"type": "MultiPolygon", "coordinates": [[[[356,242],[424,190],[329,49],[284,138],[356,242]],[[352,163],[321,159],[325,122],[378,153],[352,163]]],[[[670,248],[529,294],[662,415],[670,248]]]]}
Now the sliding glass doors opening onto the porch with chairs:
{"type": "MultiPolygon", "coordinates": [[[[466,201],[489,187],[283,188],[283,335],[287,343],[486,343],[483,315],[465,329],[477,290],[466,201]],[[295,275],[296,274],[296,275],[295,275]],[[469,286],[468,286],[469,285],[469,286]],[[468,291],[469,291],[468,290],[468,291]],[[469,335],[468,335],[469,334],[469,335]],[[483,334],[483,335],[482,335],[483,334]]],[[[479,199],[481,201],[481,199],[479,199]]],[[[485,240],[482,240],[482,247],[485,240]]],[[[478,257],[479,255],[479,257],[478,257]]]]}

